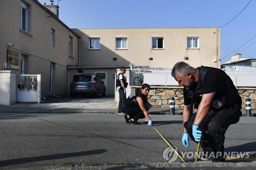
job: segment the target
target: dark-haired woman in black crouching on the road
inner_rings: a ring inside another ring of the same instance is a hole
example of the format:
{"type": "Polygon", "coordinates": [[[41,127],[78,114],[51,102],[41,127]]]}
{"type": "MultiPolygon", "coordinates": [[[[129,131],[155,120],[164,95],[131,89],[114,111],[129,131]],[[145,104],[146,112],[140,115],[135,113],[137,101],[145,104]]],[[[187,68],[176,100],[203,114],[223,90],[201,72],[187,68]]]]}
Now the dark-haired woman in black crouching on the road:
{"type": "Polygon", "coordinates": [[[131,95],[125,101],[124,110],[126,114],[124,115],[124,118],[127,124],[132,123],[134,125],[140,125],[137,120],[146,117],[148,120],[147,125],[153,126],[152,120],[147,112],[151,106],[150,103],[147,102],[148,92],[150,92],[150,86],[148,84],[143,84],[141,89],[132,91],[131,95]]]}

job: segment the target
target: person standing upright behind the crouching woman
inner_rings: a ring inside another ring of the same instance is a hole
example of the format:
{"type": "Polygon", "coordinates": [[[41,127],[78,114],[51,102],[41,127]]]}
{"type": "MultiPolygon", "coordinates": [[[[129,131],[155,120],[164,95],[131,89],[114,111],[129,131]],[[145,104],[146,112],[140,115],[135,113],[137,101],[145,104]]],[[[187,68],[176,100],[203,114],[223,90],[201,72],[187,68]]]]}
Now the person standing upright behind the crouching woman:
{"type": "Polygon", "coordinates": [[[118,79],[117,79],[117,88],[119,92],[119,103],[118,103],[118,111],[117,114],[124,114],[123,112],[123,105],[126,100],[126,87],[128,83],[126,82],[125,77],[123,74],[125,74],[126,69],[125,67],[120,68],[120,73],[118,74],[118,79]]]}

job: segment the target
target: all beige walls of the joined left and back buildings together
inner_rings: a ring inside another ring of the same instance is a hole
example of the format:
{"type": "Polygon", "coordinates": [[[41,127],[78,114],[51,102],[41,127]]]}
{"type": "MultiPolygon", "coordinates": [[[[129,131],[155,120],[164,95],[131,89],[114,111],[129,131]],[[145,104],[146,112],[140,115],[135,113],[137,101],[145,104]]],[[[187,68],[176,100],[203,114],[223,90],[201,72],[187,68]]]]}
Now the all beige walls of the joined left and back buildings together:
{"type": "Polygon", "coordinates": [[[0,70],[7,63],[7,50],[18,53],[20,73],[23,67],[24,74],[41,75],[41,94],[69,93],[71,79],[81,69],[85,73],[105,71],[107,94],[114,95],[113,74],[120,66],[130,68],[130,63],[172,68],[176,62],[185,61],[195,67],[220,67],[220,28],[69,29],[36,0],[1,0],[0,12],[0,70]],[[20,26],[22,3],[28,9],[28,31],[20,26]],[[72,55],[69,55],[70,37],[72,55]],[[198,37],[199,47],[188,49],[187,37],[198,37]],[[100,38],[100,50],[89,49],[89,38],[100,38]],[[116,38],[127,38],[127,48],[116,49],[116,38]],[[163,38],[163,48],[153,49],[152,38],[163,38]],[[14,46],[8,46],[8,42],[14,46]]]}

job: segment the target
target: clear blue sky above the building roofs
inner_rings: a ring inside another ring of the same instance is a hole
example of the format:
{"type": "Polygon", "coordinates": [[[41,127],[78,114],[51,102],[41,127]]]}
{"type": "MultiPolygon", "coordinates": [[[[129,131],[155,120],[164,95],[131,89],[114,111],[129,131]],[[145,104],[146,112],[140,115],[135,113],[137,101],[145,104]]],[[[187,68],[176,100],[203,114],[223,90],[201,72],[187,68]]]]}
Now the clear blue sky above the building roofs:
{"type": "MultiPolygon", "coordinates": [[[[38,0],[50,4],[50,0],[38,0]]],[[[256,58],[256,0],[54,0],[69,28],[221,28],[221,64],[256,58]]]]}

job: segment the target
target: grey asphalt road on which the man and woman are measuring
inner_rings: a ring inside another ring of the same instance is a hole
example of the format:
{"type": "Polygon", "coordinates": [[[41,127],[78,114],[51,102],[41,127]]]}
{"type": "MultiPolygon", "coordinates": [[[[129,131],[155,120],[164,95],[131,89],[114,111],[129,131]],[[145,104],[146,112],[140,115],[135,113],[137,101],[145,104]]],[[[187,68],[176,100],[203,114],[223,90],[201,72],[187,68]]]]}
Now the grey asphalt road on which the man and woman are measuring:
{"type": "MultiPolygon", "coordinates": [[[[154,127],[179,152],[196,152],[197,144],[193,141],[189,148],[182,145],[181,115],[151,117],[154,127]]],[[[241,117],[238,124],[229,127],[225,140],[226,151],[249,152],[250,159],[239,160],[239,163],[230,160],[221,166],[240,169],[238,165],[242,164],[242,167],[248,166],[247,169],[255,169],[255,120],[255,117],[241,117]]],[[[140,121],[143,123],[144,119],[140,121]]],[[[204,169],[219,166],[211,162],[184,165],[179,159],[173,164],[164,163],[163,152],[168,145],[155,129],[146,124],[126,124],[123,115],[118,114],[0,113],[0,135],[1,169],[98,169],[113,165],[119,169],[133,166],[160,169],[171,165],[180,169],[200,165],[204,169]]]]}

